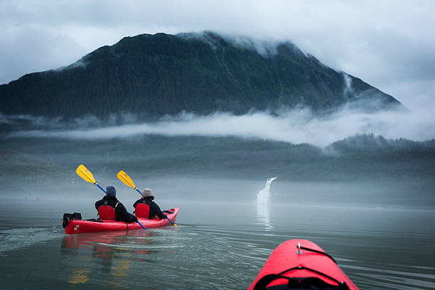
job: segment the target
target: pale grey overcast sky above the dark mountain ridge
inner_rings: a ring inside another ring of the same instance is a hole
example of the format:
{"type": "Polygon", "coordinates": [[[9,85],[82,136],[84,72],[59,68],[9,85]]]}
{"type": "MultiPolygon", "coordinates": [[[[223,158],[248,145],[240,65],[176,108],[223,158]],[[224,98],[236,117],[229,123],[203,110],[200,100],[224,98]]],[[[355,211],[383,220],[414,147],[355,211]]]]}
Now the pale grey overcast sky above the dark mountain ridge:
{"type": "Polygon", "coordinates": [[[435,1],[0,0],[0,83],[140,33],[290,40],[407,107],[435,103],[435,1]]]}

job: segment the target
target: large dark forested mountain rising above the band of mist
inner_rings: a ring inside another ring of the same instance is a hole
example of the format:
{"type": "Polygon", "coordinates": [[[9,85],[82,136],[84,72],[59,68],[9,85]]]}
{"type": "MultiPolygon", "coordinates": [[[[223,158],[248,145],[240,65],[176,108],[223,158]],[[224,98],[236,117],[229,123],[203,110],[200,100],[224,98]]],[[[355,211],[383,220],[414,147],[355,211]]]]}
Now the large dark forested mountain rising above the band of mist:
{"type": "Polygon", "coordinates": [[[0,112],[67,118],[129,112],[161,117],[281,107],[328,110],[349,101],[374,109],[400,104],[357,77],[337,72],[296,45],[212,32],[141,34],[76,63],[0,86],[0,112]]]}

